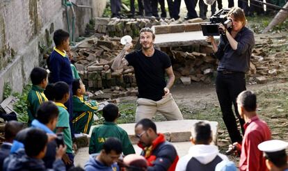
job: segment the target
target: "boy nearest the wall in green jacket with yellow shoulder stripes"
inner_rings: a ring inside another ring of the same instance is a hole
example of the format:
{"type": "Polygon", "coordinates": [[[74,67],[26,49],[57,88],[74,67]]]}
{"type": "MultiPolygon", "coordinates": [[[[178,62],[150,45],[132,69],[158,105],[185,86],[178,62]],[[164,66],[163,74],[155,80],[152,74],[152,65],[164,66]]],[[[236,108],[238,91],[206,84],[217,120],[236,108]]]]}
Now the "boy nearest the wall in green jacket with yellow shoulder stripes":
{"type": "Polygon", "coordinates": [[[48,101],[44,95],[44,90],[48,83],[48,73],[42,67],[34,67],[31,71],[30,78],[32,81],[32,88],[27,97],[28,108],[28,125],[31,125],[32,120],[35,119],[35,114],[44,101],[48,101]]]}

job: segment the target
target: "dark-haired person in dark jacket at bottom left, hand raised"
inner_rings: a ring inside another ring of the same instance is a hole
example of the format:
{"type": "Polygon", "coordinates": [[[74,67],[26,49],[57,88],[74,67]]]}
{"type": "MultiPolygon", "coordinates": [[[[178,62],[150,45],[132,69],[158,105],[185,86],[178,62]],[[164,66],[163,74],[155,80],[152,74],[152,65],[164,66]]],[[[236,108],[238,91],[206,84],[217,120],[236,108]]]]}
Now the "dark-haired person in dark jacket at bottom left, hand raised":
{"type": "MultiPolygon", "coordinates": [[[[46,170],[42,158],[47,151],[47,142],[48,137],[45,131],[40,129],[29,129],[26,133],[24,142],[26,155],[11,158],[7,170],[46,170]]],[[[56,161],[54,161],[53,164],[54,170],[65,170],[65,165],[61,160],[63,154],[65,154],[65,150],[66,147],[60,145],[56,154],[56,161]]]]}

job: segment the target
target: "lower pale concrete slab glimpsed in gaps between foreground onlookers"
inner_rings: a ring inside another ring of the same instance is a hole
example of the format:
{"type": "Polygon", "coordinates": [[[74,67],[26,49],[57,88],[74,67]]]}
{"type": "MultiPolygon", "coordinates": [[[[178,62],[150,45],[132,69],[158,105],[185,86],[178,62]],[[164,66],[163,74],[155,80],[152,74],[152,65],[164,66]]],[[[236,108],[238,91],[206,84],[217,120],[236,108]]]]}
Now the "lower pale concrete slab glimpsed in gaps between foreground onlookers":
{"type": "MultiPolygon", "coordinates": [[[[179,157],[185,156],[192,145],[191,142],[173,142],[172,144],[176,148],[179,157]]],[[[136,154],[140,154],[142,152],[142,149],[137,145],[133,145],[133,147],[136,154]]],[[[85,163],[89,159],[88,150],[88,147],[83,147],[78,150],[77,154],[74,157],[74,165],[79,165],[82,168],[84,167],[85,163]]]]}

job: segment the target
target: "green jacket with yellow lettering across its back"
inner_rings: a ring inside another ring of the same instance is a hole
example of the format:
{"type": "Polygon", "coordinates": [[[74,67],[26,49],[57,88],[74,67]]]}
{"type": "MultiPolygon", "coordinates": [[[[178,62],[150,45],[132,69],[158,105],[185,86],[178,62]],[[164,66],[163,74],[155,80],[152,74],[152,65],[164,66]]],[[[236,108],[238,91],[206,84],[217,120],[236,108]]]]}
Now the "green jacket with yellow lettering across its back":
{"type": "Polygon", "coordinates": [[[129,140],[127,132],[118,127],[114,122],[104,122],[93,129],[89,144],[89,154],[99,153],[107,138],[115,137],[122,142],[123,154],[135,154],[135,150],[129,140]]]}

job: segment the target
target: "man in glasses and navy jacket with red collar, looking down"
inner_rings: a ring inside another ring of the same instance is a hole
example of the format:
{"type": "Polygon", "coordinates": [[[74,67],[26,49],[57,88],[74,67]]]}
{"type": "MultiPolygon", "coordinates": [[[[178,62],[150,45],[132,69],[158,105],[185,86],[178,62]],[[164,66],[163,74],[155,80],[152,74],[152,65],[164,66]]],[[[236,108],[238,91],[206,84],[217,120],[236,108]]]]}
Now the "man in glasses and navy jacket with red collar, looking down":
{"type": "Polygon", "coordinates": [[[166,141],[162,133],[157,133],[156,124],[143,119],[135,125],[138,146],[143,149],[141,155],[148,162],[148,170],[175,170],[179,157],[175,147],[166,141]]]}

